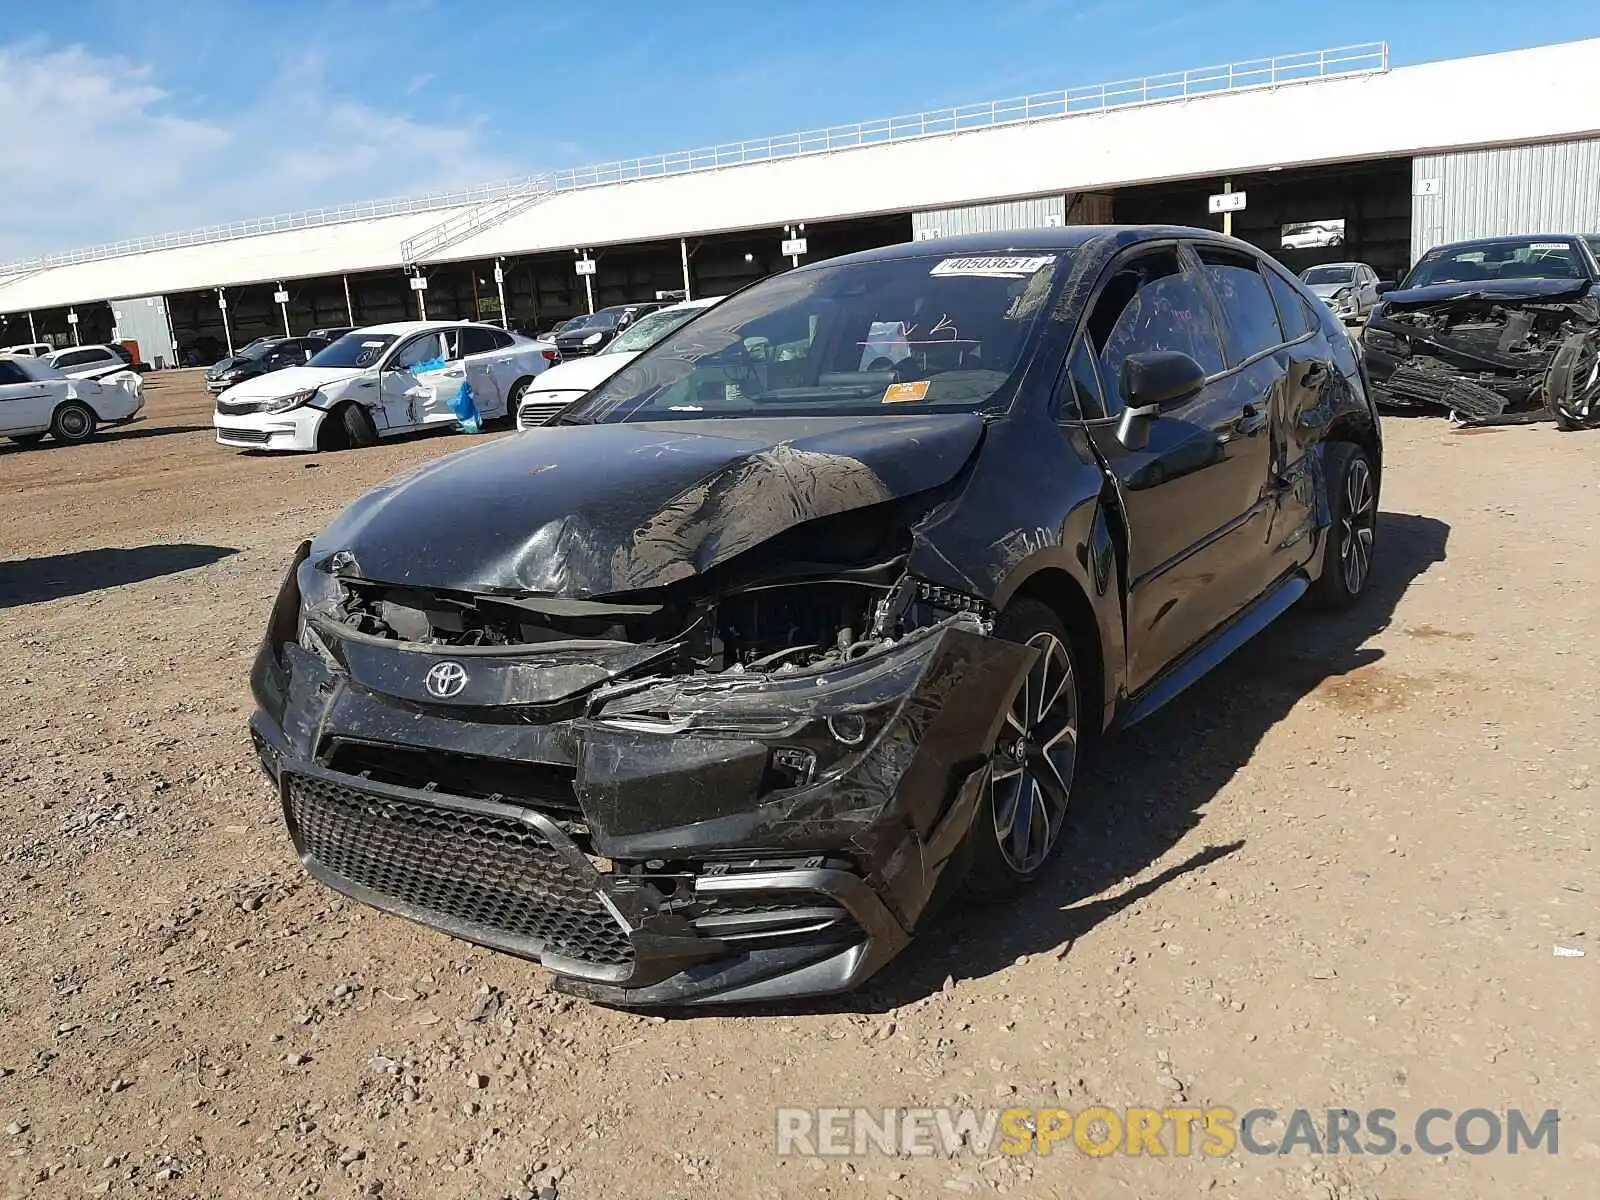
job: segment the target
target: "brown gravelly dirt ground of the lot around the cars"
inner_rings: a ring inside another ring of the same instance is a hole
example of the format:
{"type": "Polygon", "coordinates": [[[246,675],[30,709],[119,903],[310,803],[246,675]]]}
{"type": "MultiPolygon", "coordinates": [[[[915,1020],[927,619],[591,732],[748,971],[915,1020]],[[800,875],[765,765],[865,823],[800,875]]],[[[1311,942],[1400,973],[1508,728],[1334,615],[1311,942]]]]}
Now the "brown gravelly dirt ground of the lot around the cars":
{"type": "Polygon", "coordinates": [[[858,995],[672,1019],[307,882],[253,762],[293,546],[464,437],[238,454],[168,373],[126,430],[0,445],[0,1197],[1594,1195],[1600,440],[1386,432],[1366,603],[1114,742],[1048,882],[858,995]],[[784,1106],[1096,1102],[1562,1123],[1555,1155],[774,1146],[784,1106]]]}

